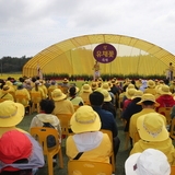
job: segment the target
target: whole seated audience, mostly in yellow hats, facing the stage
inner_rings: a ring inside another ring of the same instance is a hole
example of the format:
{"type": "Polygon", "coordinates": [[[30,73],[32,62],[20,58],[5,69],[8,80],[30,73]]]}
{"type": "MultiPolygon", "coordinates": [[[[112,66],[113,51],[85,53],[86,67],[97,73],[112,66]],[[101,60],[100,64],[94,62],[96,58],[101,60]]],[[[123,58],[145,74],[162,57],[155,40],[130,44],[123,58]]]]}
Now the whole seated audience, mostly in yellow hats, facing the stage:
{"type": "MultiPolygon", "coordinates": [[[[45,127],[46,124],[51,126],[61,136],[61,144],[65,137],[57,115],[72,115],[70,130],[73,135],[66,138],[66,154],[70,161],[110,163],[112,149],[117,161],[121,141],[116,122],[116,117],[119,117],[131,143],[130,155],[125,163],[126,174],[159,172],[166,175],[175,164],[175,149],[166,117],[159,113],[161,107],[171,107],[171,116],[175,117],[175,81],[126,79],[121,82],[113,78],[103,82],[98,78],[77,86],[68,79],[58,83],[39,78],[9,78],[0,80],[0,100],[3,100],[0,103],[0,174],[37,174],[45,164],[42,147],[30,132],[16,128],[27,113],[25,104],[33,105],[32,94],[36,92],[40,94],[39,113],[32,119],[30,128],[45,127]],[[22,104],[18,102],[18,95],[26,96],[22,104]],[[120,116],[118,110],[121,110],[120,116]],[[112,132],[113,141],[103,129],[112,132]],[[15,140],[15,137],[19,139],[15,140]],[[9,147],[1,149],[3,142],[9,142],[9,147]],[[16,148],[22,151],[16,152],[16,148]],[[11,160],[13,152],[16,158],[11,160]],[[34,160],[30,160],[31,156],[34,160]],[[156,161],[158,158],[161,162],[156,161]],[[149,166],[150,163],[153,165],[149,166]]],[[[56,159],[54,156],[52,162],[56,159]]]]}

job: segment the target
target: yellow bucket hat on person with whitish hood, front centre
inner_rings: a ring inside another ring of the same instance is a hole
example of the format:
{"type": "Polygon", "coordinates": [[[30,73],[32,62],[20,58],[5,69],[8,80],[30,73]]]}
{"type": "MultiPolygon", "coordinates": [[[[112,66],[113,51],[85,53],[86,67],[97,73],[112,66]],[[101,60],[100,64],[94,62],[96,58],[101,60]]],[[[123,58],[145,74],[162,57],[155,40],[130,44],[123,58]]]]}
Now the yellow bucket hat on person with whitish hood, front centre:
{"type": "Polygon", "coordinates": [[[70,126],[74,133],[98,131],[101,119],[91,106],[84,105],[77,109],[70,119],[70,126]]]}

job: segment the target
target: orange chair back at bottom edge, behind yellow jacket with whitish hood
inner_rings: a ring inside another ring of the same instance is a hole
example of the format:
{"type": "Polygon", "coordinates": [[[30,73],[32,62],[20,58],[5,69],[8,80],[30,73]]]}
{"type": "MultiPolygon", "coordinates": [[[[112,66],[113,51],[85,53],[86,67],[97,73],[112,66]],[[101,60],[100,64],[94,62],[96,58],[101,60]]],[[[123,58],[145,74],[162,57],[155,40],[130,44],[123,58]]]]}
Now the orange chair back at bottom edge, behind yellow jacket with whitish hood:
{"type": "Polygon", "coordinates": [[[69,161],[68,175],[110,175],[112,165],[109,163],[90,161],[69,161]]]}

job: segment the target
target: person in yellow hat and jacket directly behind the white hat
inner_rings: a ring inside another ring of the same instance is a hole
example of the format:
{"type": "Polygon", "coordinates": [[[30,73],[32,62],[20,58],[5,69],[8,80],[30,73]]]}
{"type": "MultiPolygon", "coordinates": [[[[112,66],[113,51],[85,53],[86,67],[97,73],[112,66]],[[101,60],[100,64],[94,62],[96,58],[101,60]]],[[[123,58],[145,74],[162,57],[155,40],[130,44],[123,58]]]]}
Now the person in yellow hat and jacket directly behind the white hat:
{"type": "Polygon", "coordinates": [[[165,119],[158,113],[142,115],[137,120],[140,140],[133,144],[130,155],[147,149],[162,151],[171,165],[175,164],[175,149],[166,129],[165,119]]]}

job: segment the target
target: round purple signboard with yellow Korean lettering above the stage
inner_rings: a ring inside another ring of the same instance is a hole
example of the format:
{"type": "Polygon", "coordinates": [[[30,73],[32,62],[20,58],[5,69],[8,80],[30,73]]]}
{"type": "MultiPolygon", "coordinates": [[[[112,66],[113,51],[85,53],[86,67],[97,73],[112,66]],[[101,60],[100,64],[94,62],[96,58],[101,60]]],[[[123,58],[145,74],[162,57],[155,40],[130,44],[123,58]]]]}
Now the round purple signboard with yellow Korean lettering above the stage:
{"type": "Polygon", "coordinates": [[[117,50],[113,45],[104,43],[94,48],[93,56],[98,62],[108,63],[117,57],[117,50]]]}

